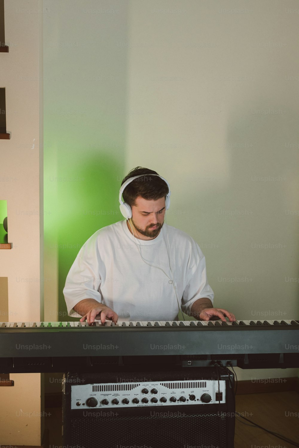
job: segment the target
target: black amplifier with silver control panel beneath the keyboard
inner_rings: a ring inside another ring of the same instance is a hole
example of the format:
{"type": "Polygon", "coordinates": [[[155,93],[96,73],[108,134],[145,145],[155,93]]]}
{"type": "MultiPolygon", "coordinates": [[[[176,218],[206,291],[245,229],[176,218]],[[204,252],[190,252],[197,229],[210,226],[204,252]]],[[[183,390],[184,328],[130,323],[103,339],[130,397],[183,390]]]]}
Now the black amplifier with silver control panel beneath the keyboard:
{"type": "Polygon", "coordinates": [[[221,367],[63,379],[64,446],[232,448],[234,419],[234,375],[221,367]]]}

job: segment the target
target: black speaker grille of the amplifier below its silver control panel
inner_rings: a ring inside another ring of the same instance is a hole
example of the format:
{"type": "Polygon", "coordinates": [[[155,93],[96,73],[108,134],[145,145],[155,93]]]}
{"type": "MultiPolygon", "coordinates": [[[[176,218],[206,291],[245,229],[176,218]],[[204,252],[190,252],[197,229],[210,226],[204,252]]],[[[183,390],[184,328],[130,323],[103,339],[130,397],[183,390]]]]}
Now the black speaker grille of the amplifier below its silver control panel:
{"type": "Polygon", "coordinates": [[[119,446],[132,446],[134,439],[135,446],[144,448],[184,448],[187,445],[231,448],[226,441],[225,419],[217,414],[182,413],[171,417],[170,413],[165,413],[169,414],[165,418],[161,417],[163,412],[153,414],[158,415],[73,418],[70,444],[84,448],[116,448],[116,439],[119,446]]]}

